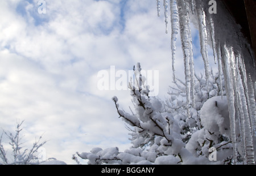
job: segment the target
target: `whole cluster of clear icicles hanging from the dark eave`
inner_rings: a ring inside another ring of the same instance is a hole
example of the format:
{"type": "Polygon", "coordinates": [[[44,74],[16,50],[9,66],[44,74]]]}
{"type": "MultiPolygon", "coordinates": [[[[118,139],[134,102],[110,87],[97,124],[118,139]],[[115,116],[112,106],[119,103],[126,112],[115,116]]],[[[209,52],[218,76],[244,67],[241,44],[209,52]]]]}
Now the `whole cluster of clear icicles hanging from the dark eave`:
{"type": "MultiPolygon", "coordinates": [[[[216,0],[217,1],[217,0],[216,0]]],[[[160,0],[156,0],[160,16],[160,0]]],[[[233,142],[233,162],[237,164],[237,138],[241,136],[245,164],[255,164],[254,147],[256,128],[255,108],[255,63],[249,44],[238,35],[239,27],[228,16],[221,1],[217,1],[217,14],[210,14],[209,1],[170,0],[172,71],[175,75],[175,51],[178,32],[184,55],[185,84],[187,91],[187,109],[195,105],[195,71],[190,18],[196,19],[200,34],[201,55],[204,61],[205,78],[209,79],[208,45],[213,48],[214,61],[218,65],[219,78],[224,75],[231,138],[233,142]],[[222,6],[221,6],[222,5],[222,6]],[[249,58],[249,59],[248,59],[249,58]]],[[[168,1],[163,0],[166,33],[168,32],[168,1]]],[[[240,32],[241,33],[241,32],[240,32]]],[[[220,84],[222,81],[220,79],[220,84]]],[[[221,86],[222,87],[222,86],[221,86]]]]}

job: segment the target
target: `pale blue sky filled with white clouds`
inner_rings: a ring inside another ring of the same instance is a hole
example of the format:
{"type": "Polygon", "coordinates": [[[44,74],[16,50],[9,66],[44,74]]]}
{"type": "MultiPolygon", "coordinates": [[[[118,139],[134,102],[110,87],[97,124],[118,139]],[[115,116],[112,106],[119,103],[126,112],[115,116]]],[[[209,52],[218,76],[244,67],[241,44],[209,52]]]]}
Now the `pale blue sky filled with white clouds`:
{"type": "MultiPolygon", "coordinates": [[[[47,158],[67,164],[76,164],[72,154],[94,147],[124,151],[130,147],[129,131],[112,97],[128,111],[130,92],[99,89],[98,72],[114,66],[128,74],[139,62],[143,70],[159,71],[158,96],[164,100],[172,71],[163,6],[158,17],[155,0],[45,0],[46,13],[40,14],[38,2],[0,2],[1,130],[13,131],[24,121],[26,144],[42,135],[47,158]]],[[[195,28],[192,37],[195,68],[203,72],[195,28]]],[[[178,40],[179,78],[183,65],[178,40]]]]}

